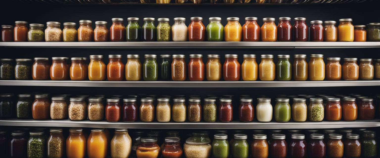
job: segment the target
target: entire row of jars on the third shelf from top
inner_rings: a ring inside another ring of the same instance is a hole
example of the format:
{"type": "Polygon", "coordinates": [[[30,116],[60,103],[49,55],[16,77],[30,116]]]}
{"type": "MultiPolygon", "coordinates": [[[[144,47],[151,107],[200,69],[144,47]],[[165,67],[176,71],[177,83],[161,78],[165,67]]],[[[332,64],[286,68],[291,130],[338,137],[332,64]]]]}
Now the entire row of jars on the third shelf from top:
{"type": "Polygon", "coordinates": [[[141,98],[138,105],[136,98],[71,97],[68,102],[68,98],[63,95],[49,99],[48,94],[36,94],[32,102],[31,96],[19,94],[15,105],[13,94],[1,94],[0,118],[13,117],[12,109],[16,109],[18,119],[69,118],[78,121],[88,118],[91,121],[106,119],[108,122],[232,122],[234,110],[237,110],[235,115],[238,116],[235,119],[241,122],[252,122],[255,114],[258,122],[271,122],[273,118],[277,122],[373,120],[377,114],[377,100],[361,95],[356,98],[344,95],[340,98],[314,96],[308,102],[304,97],[278,97],[274,106],[266,96],[257,98],[255,105],[249,96],[240,97],[239,105],[234,105],[233,98],[219,99],[214,96],[206,97],[203,105],[200,97],[190,97],[187,105],[186,99],[182,97],[173,100],[170,96],[157,99],[148,97],[141,98]],[[323,103],[324,99],[326,104],[323,103]]]}

